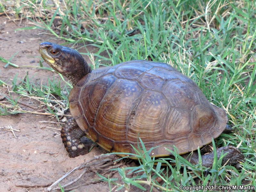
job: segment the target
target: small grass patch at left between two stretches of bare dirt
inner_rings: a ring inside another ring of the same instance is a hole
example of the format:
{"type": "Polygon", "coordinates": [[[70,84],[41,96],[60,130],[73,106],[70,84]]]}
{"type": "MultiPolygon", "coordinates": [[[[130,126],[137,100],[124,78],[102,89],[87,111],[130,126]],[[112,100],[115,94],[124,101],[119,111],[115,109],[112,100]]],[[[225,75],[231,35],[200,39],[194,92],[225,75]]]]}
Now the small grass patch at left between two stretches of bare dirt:
{"type": "MultiPolygon", "coordinates": [[[[58,116],[65,116],[65,112],[68,109],[68,94],[70,87],[66,86],[61,87],[60,81],[53,79],[51,81],[48,79],[47,85],[38,85],[34,84],[29,80],[28,74],[17,83],[17,75],[13,77],[12,84],[10,89],[8,89],[8,96],[5,97],[5,103],[0,103],[0,116],[17,114],[17,113],[28,113],[29,111],[22,110],[19,107],[18,100],[20,97],[31,98],[36,101],[44,109],[40,112],[31,111],[34,114],[44,114],[45,115],[55,115],[57,119],[58,116]],[[13,97],[15,94],[16,97],[13,97]],[[18,97],[17,97],[18,95],[18,97]]],[[[1,83],[1,82],[0,82],[1,83]]],[[[3,82],[3,84],[8,85],[3,82]]]]}

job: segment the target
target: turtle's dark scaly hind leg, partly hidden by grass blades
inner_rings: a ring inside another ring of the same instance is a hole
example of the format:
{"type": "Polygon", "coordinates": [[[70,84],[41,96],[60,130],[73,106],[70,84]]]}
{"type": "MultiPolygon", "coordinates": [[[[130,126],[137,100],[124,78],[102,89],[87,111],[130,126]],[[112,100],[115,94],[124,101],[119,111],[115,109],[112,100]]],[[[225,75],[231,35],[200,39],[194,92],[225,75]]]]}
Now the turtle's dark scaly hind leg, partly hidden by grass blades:
{"type": "MultiPolygon", "coordinates": [[[[228,165],[235,166],[236,169],[239,168],[239,162],[244,161],[244,155],[241,153],[239,149],[234,146],[226,146],[217,148],[217,157],[220,158],[221,151],[223,154],[228,153],[222,159],[222,165],[227,163],[228,165]]],[[[190,156],[189,154],[182,155],[185,159],[187,159],[192,164],[198,164],[198,153],[194,151],[193,154],[190,156]]],[[[214,152],[210,152],[201,156],[202,158],[202,165],[204,167],[212,167],[213,159],[214,159],[214,152]]]]}

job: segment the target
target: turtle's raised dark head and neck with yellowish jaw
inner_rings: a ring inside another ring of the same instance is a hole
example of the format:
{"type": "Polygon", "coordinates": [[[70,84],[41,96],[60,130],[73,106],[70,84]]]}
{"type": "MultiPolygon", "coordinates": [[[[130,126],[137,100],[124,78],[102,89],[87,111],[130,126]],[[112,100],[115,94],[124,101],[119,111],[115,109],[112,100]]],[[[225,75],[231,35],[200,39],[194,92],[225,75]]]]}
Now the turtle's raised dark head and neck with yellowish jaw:
{"type": "Polygon", "coordinates": [[[91,72],[82,55],[74,49],[55,43],[40,44],[39,53],[54,70],[68,77],[75,85],[83,76],[91,72]]]}

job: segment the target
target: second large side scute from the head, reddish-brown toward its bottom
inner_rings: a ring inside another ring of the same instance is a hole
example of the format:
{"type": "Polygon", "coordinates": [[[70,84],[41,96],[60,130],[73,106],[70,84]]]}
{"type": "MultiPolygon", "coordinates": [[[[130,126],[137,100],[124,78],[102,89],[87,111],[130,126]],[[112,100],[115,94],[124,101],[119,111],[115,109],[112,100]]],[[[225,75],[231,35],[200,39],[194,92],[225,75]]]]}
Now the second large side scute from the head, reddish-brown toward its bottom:
{"type": "Polygon", "coordinates": [[[139,97],[142,88],[136,81],[118,79],[108,90],[95,116],[95,129],[106,138],[126,140],[126,121],[132,103],[139,97]]]}

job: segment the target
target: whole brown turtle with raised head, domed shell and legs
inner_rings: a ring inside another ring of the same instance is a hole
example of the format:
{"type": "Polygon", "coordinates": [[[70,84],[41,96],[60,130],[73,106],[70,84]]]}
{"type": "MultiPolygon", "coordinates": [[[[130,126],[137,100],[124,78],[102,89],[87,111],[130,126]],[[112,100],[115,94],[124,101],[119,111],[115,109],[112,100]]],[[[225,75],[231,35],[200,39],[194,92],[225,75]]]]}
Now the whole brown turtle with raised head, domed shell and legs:
{"type": "MultiPolygon", "coordinates": [[[[147,150],[153,148],[150,156],[170,156],[166,148],[177,148],[185,156],[194,151],[189,160],[196,164],[195,150],[230,129],[225,110],[169,64],[132,60],[92,70],[69,47],[44,42],[39,53],[73,84],[72,118],[61,129],[70,157],[88,153],[92,141],[109,152],[134,153],[140,137],[147,150]]],[[[224,163],[237,166],[244,159],[234,146],[217,148],[218,156],[221,151],[227,153],[224,163]]],[[[202,162],[210,167],[213,152],[202,155],[202,162]]]]}

